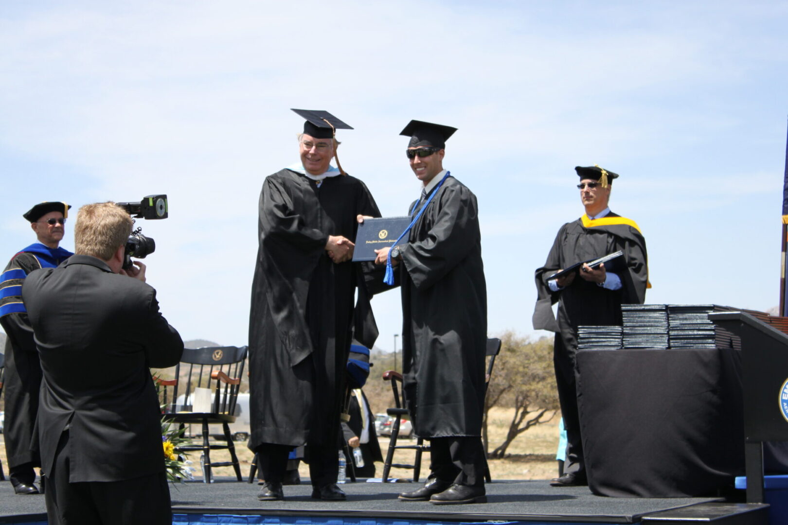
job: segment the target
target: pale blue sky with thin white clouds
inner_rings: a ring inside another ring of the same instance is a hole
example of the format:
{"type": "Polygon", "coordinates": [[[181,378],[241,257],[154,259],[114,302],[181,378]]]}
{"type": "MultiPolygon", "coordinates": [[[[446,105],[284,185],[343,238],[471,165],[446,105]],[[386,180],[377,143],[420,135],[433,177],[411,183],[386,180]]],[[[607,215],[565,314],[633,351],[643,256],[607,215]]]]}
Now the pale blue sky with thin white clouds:
{"type": "MultiPolygon", "coordinates": [[[[186,339],[245,344],[262,180],[297,158],[289,108],[327,109],[388,216],[419,192],[404,125],[459,128],[444,165],[478,196],[491,335],[533,332],[533,270],[583,211],[575,165],[621,175],[647,302],[768,309],[786,27],[788,2],[6,0],[0,256],[33,241],[35,202],[168,194],[169,219],[140,221],[162,312],[186,339]]],[[[382,349],[399,301],[374,300],[382,349]]]]}

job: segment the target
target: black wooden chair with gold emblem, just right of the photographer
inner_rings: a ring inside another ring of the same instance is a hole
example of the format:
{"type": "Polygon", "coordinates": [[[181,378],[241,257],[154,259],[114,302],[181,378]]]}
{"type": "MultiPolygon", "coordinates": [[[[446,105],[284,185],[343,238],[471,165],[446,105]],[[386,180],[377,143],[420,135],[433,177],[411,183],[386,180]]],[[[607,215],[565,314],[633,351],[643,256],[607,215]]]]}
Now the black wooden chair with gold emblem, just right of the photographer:
{"type": "Polygon", "coordinates": [[[202,443],[178,446],[179,452],[200,451],[203,482],[210,483],[211,468],[232,466],[236,479],[241,481],[236,447],[230,434],[230,423],[236,421],[236,402],[240,390],[243,364],[247,357],[246,346],[206,346],[184,349],[180,363],[175,367],[175,379],[162,379],[164,387],[164,418],[186,425],[199,425],[202,443]],[[170,394],[168,395],[168,390],[170,394]],[[221,424],[221,438],[210,442],[210,425],[221,424]],[[210,451],[228,449],[230,461],[211,461],[210,451]]]}

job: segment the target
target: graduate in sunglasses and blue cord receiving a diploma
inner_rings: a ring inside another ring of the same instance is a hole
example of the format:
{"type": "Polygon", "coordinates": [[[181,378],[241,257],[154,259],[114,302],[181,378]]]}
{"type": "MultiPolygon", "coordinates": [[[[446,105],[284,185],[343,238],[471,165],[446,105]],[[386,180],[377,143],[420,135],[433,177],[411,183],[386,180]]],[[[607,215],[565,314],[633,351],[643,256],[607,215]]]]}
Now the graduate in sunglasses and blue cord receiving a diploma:
{"type": "Polygon", "coordinates": [[[481,419],[485,396],[487,289],[476,196],[443,168],[455,128],[412,120],[407,157],[422,183],[422,210],[408,241],[376,250],[399,272],[403,389],[414,433],[430,442],[427,482],[402,501],[485,502],[481,419]]]}

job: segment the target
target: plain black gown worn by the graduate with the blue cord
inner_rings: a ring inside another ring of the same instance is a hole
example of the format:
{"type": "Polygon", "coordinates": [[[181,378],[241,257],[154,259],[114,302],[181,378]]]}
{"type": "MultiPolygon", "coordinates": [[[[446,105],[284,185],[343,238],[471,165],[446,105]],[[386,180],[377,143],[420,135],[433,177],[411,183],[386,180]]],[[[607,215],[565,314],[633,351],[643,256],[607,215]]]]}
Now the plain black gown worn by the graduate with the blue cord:
{"type": "Polygon", "coordinates": [[[448,177],[401,251],[403,377],[414,433],[480,436],[487,288],[476,196],[448,177]]]}

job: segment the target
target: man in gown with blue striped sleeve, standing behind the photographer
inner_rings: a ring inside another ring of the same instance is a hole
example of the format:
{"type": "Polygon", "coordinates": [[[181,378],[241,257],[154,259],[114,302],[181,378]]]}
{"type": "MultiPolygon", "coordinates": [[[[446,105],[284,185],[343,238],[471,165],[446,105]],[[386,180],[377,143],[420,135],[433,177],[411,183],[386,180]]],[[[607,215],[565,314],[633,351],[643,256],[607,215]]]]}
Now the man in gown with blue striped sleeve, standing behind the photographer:
{"type": "Polygon", "coordinates": [[[65,220],[71,206],[65,202],[42,202],[23,217],[30,222],[38,242],[11,257],[0,275],[0,324],[6,331],[5,438],[9,478],[15,494],[39,494],[34,467],[38,453],[30,448],[39,409],[41,364],[33,331],[22,302],[25,277],[39,268],[55,268],[72,255],[60,248],[65,220]]]}

